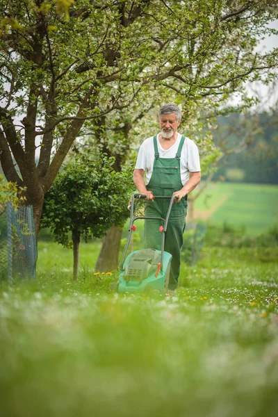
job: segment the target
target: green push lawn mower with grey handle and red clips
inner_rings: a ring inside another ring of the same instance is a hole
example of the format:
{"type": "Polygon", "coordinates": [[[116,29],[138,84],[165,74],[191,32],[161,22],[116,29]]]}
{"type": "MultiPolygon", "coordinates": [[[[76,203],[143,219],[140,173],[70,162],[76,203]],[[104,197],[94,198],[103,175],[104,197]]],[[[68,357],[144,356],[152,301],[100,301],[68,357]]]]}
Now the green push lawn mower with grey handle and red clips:
{"type": "Polygon", "coordinates": [[[120,277],[118,281],[117,291],[119,293],[142,293],[157,292],[164,293],[167,291],[172,255],[164,250],[165,234],[167,231],[167,223],[169,220],[172,204],[176,196],[154,196],[155,199],[170,199],[166,218],[160,217],[145,217],[134,216],[133,213],[136,210],[136,204],[138,199],[145,199],[143,194],[133,194],[130,204],[130,222],[129,222],[129,234],[126,239],[126,245],[122,254],[122,261],[120,262],[120,277]],[[163,224],[159,227],[161,231],[161,250],[155,250],[152,248],[136,250],[126,256],[127,248],[131,240],[131,234],[136,230],[136,220],[161,220],[163,224]]]}

